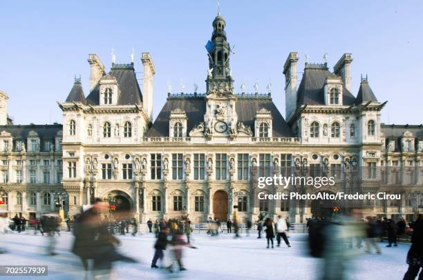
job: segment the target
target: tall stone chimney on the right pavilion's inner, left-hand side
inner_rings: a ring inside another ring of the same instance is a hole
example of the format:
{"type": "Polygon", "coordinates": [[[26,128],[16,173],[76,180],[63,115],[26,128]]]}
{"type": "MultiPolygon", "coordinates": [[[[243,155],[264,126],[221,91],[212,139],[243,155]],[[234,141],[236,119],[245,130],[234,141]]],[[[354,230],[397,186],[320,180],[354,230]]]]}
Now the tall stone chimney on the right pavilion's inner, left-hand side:
{"type": "Polygon", "coordinates": [[[288,121],[297,109],[297,62],[298,52],[290,52],[283,66],[285,74],[285,120],[288,121]]]}

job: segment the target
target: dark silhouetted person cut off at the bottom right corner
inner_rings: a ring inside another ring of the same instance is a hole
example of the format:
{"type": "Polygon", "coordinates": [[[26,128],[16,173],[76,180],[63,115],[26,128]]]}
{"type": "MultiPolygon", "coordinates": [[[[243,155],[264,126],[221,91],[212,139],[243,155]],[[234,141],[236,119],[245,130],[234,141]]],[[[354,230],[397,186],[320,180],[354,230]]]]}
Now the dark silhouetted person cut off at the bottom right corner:
{"type": "MultiPolygon", "coordinates": [[[[404,275],[404,280],[411,280],[417,277],[420,268],[423,268],[423,214],[419,214],[418,219],[413,223],[413,235],[411,236],[411,246],[407,254],[408,270],[404,275]]],[[[420,271],[419,280],[423,279],[423,270],[420,271]]]]}

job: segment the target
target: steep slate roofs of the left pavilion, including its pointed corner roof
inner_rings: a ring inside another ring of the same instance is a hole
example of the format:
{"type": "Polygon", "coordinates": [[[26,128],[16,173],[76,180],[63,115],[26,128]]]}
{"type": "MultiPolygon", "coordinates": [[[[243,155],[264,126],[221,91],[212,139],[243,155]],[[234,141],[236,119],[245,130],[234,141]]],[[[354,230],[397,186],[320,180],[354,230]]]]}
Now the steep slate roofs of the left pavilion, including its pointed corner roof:
{"type": "MultiPolygon", "coordinates": [[[[118,81],[118,88],[120,90],[118,105],[142,104],[142,92],[135,75],[133,63],[113,63],[109,75],[115,77],[118,81]]],[[[100,104],[100,85],[98,83],[91,90],[90,94],[88,94],[88,97],[86,97],[86,103],[88,105],[100,104]]]]}

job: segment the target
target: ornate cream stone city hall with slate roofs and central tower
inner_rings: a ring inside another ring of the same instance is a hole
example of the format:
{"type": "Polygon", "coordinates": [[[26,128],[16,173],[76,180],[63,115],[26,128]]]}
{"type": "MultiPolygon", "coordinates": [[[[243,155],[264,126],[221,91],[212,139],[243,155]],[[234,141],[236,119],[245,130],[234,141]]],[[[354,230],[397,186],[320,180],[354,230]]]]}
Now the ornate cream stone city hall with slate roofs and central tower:
{"type": "MultiPolygon", "coordinates": [[[[57,126],[57,137],[53,138],[55,149],[61,146],[62,152],[34,154],[44,161],[44,157],[54,158],[59,153],[62,184],[7,182],[1,185],[3,190],[17,196],[21,190],[37,189],[41,197],[43,188],[64,191],[68,215],[77,214],[94,197],[102,197],[118,210],[132,211],[140,221],[181,216],[194,222],[210,217],[225,221],[233,219],[236,211],[243,221],[254,221],[265,212],[270,217],[284,214],[292,221],[303,222],[338,206],[345,210],[355,207],[341,201],[327,205],[311,199],[260,200],[259,192],[402,194],[399,200],[360,201],[365,214],[394,218],[411,219],[423,208],[423,127],[381,123],[386,102],[378,101],[368,79],[361,78],[357,96],[351,92],[351,54],[344,54],[333,71],[326,62],[307,61],[298,86],[299,57],[296,52],[288,54],[283,66],[284,119],[272,101],[270,85],[265,92],[259,92],[257,84],[254,92],[246,92],[242,84],[241,91],[235,92],[226,22],[218,14],[212,26],[212,38],[207,43],[206,92],[194,89],[192,93],[172,93],[169,89],[154,121],[155,68],[150,54],[142,53],[142,86],[133,61],[113,62],[106,72],[100,59],[90,54],[88,96],[80,79],[75,79],[66,101],[59,104],[63,130],[57,126]],[[330,175],[336,178],[336,184],[258,188],[260,177],[274,174],[330,175]]],[[[23,136],[12,129],[1,126],[1,137],[9,133],[5,137],[15,145],[17,137],[23,136]]],[[[24,137],[31,139],[32,134],[24,137]]],[[[15,153],[5,151],[1,157],[9,162],[12,157],[22,157],[21,152],[15,153]]],[[[13,172],[15,167],[8,168],[13,172]]],[[[26,171],[23,174],[28,176],[26,171]]],[[[15,201],[19,200],[8,197],[10,210],[26,209],[19,208],[15,201]]],[[[35,210],[37,215],[46,211],[35,210]]]]}

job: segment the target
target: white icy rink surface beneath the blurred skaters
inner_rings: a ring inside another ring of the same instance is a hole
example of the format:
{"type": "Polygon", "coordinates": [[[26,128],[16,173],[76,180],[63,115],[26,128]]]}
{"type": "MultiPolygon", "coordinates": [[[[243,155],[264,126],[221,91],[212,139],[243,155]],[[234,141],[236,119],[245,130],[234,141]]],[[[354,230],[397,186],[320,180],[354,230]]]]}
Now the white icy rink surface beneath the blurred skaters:
{"type": "MultiPolygon", "coordinates": [[[[265,239],[256,239],[255,234],[241,239],[233,239],[231,234],[220,234],[217,238],[207,234],[192,234],[191,237],[198,249],[185,248],[183,263],[187,271],[173,273],[172,277],[306,280],[317,279],[321,270],[321,260],[307,255],[304,234],[292,235],[292,248],[287,248],[284,243],[277,248],[275,242],[273,250],[265,248],[265,239]]],[[[8,248],[9,253],[0,254],[0,265],[48,266],[48,277],[36,279],[84,279],[84,269],[79,259],[70,252],[73,243],[70,232],[62,232],[62,237],[57,237],[58,254],[54,257],[44,254],[47,240],[39,234],[8,234],[1,238],[1,246],[8,248]]],[[[138,259],[140,263],[115,263],[113,279],[167,279],[171,276],[164,270],[150,268],[154,234],[138,234],[136,237],[118,235],[118,238],[122,241],[120,252],[138,259]]],[[[409,245],[385,248],[386,243],[379,243],[379,246],[382,254],[360,254],[353,263],[346,264],[350,275],[348,279],[402,279],[407,268],[405,258],[409,245]]],[[[165,258],[169,261],[168,255],[165,258]]]]}

